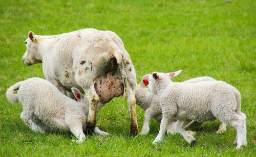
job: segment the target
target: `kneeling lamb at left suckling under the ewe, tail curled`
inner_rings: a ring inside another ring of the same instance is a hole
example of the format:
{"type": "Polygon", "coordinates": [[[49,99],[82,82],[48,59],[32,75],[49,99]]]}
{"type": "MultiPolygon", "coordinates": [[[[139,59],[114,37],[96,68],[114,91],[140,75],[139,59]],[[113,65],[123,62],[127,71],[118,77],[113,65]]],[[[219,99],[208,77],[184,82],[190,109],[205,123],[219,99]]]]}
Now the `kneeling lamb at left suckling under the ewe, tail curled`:
{"type": "MultiPolygon", "coordinates": [[[[70,131],[78,138],[76,142],[82,143],[86,139],[83,129],[87,125],[89,101],[77,88],[71,90],[78,101],[63,95],[49,81],[33,77],[12,85],[6,96],[12,103],[22,103],[20,118],[35,132],[70,131]]],[[[94,128],[94,133],[108,135],[98,127],[94,128]]]]}

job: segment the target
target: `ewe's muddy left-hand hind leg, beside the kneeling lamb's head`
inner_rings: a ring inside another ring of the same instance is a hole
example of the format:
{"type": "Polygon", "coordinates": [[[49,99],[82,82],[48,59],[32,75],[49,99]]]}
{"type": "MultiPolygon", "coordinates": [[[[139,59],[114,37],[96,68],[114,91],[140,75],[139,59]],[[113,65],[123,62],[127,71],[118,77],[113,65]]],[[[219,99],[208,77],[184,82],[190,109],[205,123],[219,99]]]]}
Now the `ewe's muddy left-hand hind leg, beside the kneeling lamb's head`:
{"type": "Polygon", "coordinates": [[[98,111],[99,96],[97,95],[94,89],[94,85],[92,85],[90,89],[84,88],[83,90],[86,92],[90,103],[87,118],[87,129],[93,131],[96,125],[96,115],[98,111]]]}

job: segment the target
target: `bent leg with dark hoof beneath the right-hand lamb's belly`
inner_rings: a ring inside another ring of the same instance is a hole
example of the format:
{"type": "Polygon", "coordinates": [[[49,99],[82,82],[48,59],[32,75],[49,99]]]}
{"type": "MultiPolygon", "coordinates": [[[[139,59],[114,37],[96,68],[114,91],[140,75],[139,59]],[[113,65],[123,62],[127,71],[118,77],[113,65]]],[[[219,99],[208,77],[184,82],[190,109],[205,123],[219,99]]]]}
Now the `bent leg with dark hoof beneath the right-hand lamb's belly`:
{"type": "Polygon", "coordinates": [[[183,138],[191,145],[195,145],[196,144],[196,139],[188,134],[184,127],[190,122],[190,120],[177,120],[176,123],[175,123],[175,128],[177,130],[178,133],[180,133],[183,138]]]}

